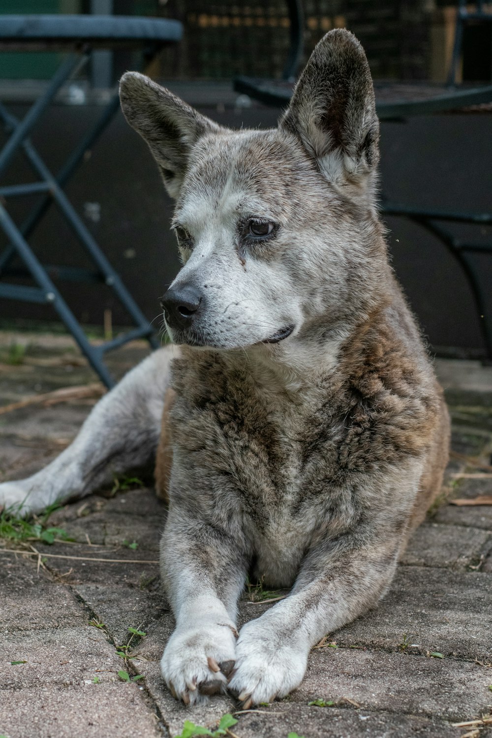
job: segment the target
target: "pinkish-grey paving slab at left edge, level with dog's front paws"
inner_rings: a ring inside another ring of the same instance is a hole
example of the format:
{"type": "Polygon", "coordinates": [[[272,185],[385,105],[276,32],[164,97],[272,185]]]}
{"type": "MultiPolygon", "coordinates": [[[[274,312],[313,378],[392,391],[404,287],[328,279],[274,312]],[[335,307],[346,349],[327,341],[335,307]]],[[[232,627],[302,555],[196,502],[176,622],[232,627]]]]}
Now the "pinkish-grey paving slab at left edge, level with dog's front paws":
{"type": "Polygon", "coordinates": [[[0,634],[0,653],[0,698],[1,689],[82,686],[95,676],[111,683],[122,669],[105,632],[89,625],[0,634]]]}

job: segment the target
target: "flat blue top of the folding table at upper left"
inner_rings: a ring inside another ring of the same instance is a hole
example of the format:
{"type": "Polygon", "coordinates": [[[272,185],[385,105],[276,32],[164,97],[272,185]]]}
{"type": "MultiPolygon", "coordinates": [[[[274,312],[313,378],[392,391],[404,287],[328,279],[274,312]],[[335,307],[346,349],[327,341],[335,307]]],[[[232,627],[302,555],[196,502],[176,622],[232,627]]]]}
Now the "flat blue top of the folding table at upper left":
{"type": "Polygon", "coordinates": [[[181,41],[179,21],[132,15],[0,15],[0,46],[39,48],[142,46],[145,42],[181,41]]]}

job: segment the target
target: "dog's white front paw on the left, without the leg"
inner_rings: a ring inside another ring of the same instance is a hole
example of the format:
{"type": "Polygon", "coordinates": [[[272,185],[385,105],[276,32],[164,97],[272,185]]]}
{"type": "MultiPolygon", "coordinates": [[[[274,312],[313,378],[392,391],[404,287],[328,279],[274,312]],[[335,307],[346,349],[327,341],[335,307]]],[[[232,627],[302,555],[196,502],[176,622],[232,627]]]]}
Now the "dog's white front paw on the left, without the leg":
{"type": "Polygon", "coordinates": [[[235,629],[205,624],[175,630],[161,660],[162,676],[176,699],[190,705],[207,695],[226,692],[227,677],[235,663],[235,629]]]}

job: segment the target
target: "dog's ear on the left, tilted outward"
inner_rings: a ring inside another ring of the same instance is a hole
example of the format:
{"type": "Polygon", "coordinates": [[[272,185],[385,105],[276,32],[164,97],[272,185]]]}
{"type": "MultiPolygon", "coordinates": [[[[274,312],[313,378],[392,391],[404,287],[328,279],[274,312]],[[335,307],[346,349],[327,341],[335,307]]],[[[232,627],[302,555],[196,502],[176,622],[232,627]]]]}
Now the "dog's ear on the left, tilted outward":
{"type": "Polygon", "coordinates": [[[122,76],[119,100],[128,123],[148,143],[167,192],[176,198],[190,149],[201,136],[219,131],[220,126],[138,72],[122,76]]]}

